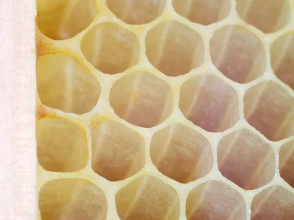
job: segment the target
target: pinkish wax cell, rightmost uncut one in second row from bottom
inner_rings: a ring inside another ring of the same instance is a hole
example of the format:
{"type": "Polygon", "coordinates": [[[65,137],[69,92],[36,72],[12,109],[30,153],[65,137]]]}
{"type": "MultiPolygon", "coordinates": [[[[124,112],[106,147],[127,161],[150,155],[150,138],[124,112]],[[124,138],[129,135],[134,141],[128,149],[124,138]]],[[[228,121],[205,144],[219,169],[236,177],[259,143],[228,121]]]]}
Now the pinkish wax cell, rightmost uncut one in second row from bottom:
{"type": "Polygon", "coordinates": [[[222,176],[245,190],[268,184],[275,173],[270,146],[253,132],[240,129],[221,138],[218,166],[222,176]]]}

